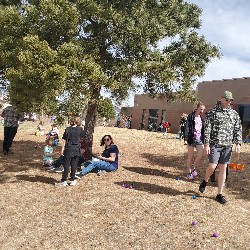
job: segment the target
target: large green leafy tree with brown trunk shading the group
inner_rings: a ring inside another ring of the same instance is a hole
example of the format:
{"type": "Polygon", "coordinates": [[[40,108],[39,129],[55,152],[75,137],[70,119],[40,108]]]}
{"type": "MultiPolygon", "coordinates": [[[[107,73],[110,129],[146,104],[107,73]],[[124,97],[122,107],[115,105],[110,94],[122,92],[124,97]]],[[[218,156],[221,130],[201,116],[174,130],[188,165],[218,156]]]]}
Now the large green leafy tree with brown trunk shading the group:
{"type": "Polygon", "coordinates": [[[152,96],[162,93],[170,100],[174,93],[174,98],[191,99],[197,78],[220,56],[197,33],[201,10],[183,0],[3,2],[0,66],[11,98],[46,109],[50,86],[55,96],[65,91],[85,96],[91,142],[101,90],[123,100],[140,87],[137,77],[152,96]],[[166,43],[163,49],[160,41],[166,43]],[[28,90],[39,86],[45,91],[37,98],[32,91],[30,98],[28,90]]]}

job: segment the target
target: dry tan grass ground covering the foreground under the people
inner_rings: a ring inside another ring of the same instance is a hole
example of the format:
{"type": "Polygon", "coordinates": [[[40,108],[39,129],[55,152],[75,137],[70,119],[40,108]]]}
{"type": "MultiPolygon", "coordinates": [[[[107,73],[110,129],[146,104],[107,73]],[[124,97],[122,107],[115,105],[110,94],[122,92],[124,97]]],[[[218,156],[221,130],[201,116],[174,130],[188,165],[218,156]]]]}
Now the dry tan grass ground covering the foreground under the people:
{"type": "Polygon", "coordinates": [[[21,124],[14,154],[0,155],[1,250],[249,249],[249,145],[242,147],[245,170],[230,172],[229,203],[223,206],[214,200],[214,184],[197,193],[206,159],[198,180],[187,181],[183,143],[146,131],[97,127],[94,152],[101,151],[100,138],[112,134],[121,153],[119,170],[55,187],[61,174],[42,169],[42,149],[35,145],[44,137],[33,135],[36,125],[21,124]],[[211,237],[215,231],[218,238],[211,237]]]}

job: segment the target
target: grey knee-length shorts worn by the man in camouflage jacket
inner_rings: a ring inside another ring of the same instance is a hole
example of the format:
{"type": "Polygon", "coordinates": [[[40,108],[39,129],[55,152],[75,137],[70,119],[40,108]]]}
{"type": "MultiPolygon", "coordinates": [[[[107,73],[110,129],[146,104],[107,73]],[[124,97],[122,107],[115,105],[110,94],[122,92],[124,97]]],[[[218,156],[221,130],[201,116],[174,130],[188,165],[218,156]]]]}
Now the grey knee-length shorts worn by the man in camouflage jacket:
{"type": "Polygon", "coordinates": [[[210,145],[209,163],[229,164],[232,156],[231,146],[210,145]]]}

